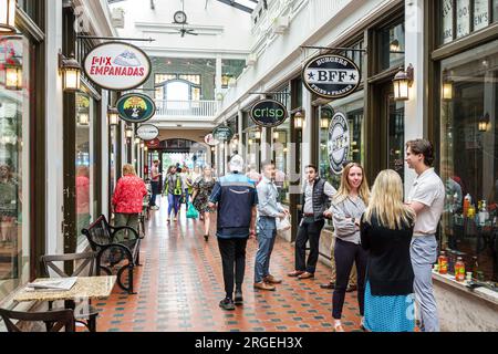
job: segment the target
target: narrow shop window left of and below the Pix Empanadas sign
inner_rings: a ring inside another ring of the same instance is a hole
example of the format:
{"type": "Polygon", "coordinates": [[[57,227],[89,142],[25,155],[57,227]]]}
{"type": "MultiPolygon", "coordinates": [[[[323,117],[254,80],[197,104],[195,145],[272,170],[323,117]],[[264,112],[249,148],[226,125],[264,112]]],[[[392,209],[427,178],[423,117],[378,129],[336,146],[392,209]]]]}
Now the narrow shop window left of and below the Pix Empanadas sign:
{"type": "Polygon", "coordinates": [[[80,230],[92,219],[94,190],[94,158],[92,126],[94,119],[93,100],[84,93],[76,95],[76,235],[79,242],[84,239],[80,230]]]}

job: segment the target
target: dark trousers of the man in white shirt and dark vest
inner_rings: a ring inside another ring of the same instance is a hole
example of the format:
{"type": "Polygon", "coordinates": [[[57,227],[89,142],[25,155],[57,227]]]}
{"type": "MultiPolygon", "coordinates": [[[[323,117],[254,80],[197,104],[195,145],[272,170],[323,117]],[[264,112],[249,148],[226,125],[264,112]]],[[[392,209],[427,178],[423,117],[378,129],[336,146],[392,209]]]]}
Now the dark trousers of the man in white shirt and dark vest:
{"type": "Polygon", "coordinates": [[[314,218],[305,217],[298,229],[295,239],[295,270],[314,273],[319,258],[320,233],[324,220],[314,221],[314,218]],[[307,242],[310,240],[310,256],[307,257],[307,242]]]}

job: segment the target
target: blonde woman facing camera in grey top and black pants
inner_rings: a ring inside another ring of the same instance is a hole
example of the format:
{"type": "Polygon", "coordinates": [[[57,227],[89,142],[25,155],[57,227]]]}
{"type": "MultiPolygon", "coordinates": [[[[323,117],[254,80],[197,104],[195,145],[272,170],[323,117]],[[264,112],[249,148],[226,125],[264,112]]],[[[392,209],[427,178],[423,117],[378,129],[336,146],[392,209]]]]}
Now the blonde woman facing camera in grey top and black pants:
{"type": "MultiPolygon", "coordinates": [[[[360,244],[360,219],[370,199],[370,189],[363,167],[350,163],[344,167],[341,186],[332,199],[325,217],[332,216],[335,231],[335,289],[332,316],[335,332],[344,332],[341,323],[342,308],[353,263],[357,274],[357,303],[363,317],[366,251],[360,244]]],[[[363,319],[362,319],[363,325],[363,319]]]]}

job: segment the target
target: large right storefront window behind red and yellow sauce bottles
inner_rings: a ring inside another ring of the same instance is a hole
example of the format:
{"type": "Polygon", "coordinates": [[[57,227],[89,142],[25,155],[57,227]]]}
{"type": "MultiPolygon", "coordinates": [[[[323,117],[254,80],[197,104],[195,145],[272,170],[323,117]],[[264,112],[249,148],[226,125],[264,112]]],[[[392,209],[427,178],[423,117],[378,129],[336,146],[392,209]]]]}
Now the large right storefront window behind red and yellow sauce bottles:
{"type": "MultiPolygon", "coordinates": [[[[498,41],[442,62],[442,248],[474,278],[498,281],[498,41]]],[[[450,263],[450,271],[453,263],[450,263]]]]}

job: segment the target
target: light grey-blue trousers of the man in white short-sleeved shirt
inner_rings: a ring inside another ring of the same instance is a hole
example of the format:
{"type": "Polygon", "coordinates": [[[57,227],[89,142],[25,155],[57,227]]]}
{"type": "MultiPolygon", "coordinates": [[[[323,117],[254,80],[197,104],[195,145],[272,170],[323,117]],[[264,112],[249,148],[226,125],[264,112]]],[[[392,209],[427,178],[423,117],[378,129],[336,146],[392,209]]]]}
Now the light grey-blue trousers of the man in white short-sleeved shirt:
{"type": "Polygon", "coordinates": [[[439,319],[437,316],[432,275],[432,266],[437,259],[436,237],[414,237],[409,253],[415,274],[413,288],[418,305],[417,317],[421,320],[421,331],[439,332],[439,319]]]}

